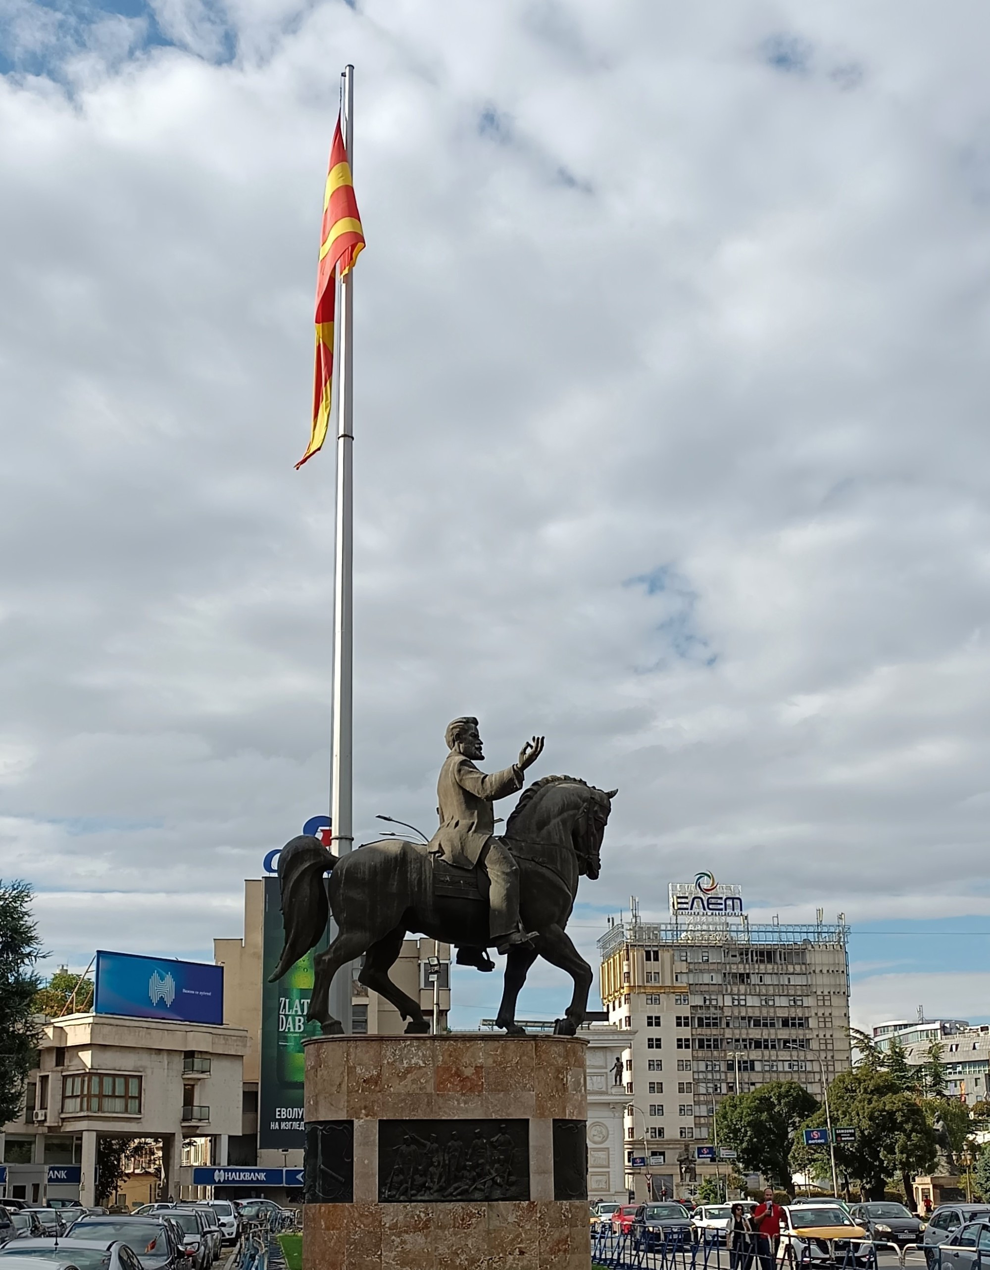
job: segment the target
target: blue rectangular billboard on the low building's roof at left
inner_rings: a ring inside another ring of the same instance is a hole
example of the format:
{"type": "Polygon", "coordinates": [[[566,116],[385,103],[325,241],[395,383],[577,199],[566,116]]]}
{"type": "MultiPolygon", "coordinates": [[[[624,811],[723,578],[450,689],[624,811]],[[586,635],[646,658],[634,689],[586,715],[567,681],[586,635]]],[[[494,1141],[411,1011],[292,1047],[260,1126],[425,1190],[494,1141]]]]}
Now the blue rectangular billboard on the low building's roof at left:
{"type": "Polygon", "coordinates": [[[97,952],[98,1015],[222,1024],[224,968],[131,952],[97,952]]]}

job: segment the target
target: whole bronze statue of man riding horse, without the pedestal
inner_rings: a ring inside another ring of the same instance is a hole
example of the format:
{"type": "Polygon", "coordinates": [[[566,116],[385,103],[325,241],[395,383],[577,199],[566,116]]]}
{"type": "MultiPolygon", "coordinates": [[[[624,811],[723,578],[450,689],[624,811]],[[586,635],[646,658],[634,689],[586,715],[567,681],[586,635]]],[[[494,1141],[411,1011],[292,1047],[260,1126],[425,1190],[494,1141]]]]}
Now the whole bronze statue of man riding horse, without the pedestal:
{"type": "Polygon", "coordinates": [[[493,803],[522,789],[522,773],[539,758],[543,738],[534,737],[512,767],[492,775],[474,762],[484,757],[477,719],[455,719],[446,740],[440,828],[428,843],[385,838],[337,857],[318,838],[301,836],[282,848],[285,949],[271,979],[281,979],[319,944],[333,913],[337,936],[314,958],[309,1006],[309,1020],[324,1034],[343,1030],[330,1015],[333,977],[362,955],[361,983],[409,1020],[407,1033],[430,1031],[419,1002],[389,978],[402,941],[414,932],[458,945],[459,963],[480,970],[493,965],[485,949],[506,954],[496,1024],[510,1035],[524,1031],[516,1024],[516,999],[529,968],[538,956],[560,966],[574,991],[554,1031],[573,1036],[585,1020],[593,975],[566,926],[581,875],[595,879],[601,870],[601,841],[618,791],[573,776],[544,776],[522,792],[498,838],[493,803]]]}

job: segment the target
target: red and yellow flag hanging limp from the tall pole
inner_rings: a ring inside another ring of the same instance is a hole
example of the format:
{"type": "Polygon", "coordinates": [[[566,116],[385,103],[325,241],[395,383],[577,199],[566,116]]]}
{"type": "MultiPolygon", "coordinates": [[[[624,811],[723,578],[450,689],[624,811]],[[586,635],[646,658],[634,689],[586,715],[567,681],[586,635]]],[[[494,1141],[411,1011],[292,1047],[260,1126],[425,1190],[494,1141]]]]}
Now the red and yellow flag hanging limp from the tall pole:
{"type": "Polygon", "coordinates": [[[330,422],[330,389],[333,385],[333,318],[334,279],[339,269],[343,277],[353,268],[365,245],[361,217],[357,212],[351,165],[341,132],[341,118],[330,146],[330,168],[323,194],[323,232],[320,235],[320,263],[316,272],[316,366],[313,382],[313,433],[306,452],[296,464],[301,467],[327,439],[330,422]]]}

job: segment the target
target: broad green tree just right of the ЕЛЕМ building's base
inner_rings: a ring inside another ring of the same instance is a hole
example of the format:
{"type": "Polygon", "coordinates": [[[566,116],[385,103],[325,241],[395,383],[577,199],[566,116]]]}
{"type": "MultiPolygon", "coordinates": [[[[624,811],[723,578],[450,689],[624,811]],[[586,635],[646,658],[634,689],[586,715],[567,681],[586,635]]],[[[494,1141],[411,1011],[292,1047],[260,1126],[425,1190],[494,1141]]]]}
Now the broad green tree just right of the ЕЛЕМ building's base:
{"type": "MultiPolygon", "coordinates": [[[[935,1135],[924,1109],[910,1093],[904,1093],[891,1072],[865,1066],[843,1072],[829,1086],[832,1125],[851,1125],[854,1143],[835,1144],[835,1166],[854,1177],[868,1199],[883,1199],[888,1177],[905,1187],[912,1201],[911,1177],[928,1172],[935,1163],[935,1135]]],[[[821,1129],[825,1111],[811,1116],[802,1128],[821,1129]]],[[[816,1148],[799,1143],[792,1153],[796,1168],[815,1160],[816,1148]]],[[[817,1154],[822,1154],[817,1148],[817,1154]]]]}

